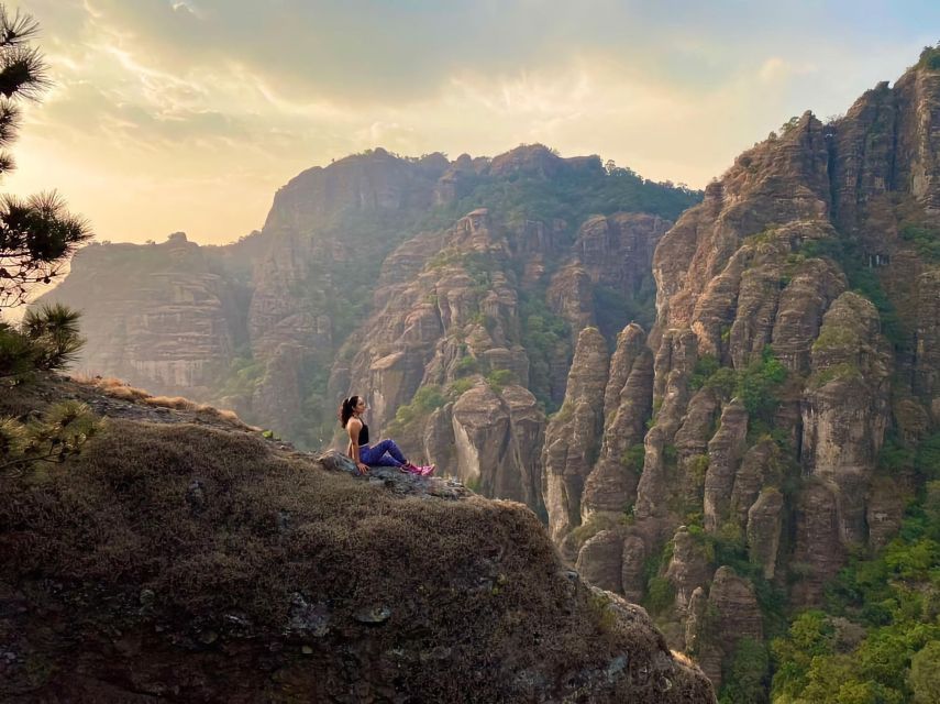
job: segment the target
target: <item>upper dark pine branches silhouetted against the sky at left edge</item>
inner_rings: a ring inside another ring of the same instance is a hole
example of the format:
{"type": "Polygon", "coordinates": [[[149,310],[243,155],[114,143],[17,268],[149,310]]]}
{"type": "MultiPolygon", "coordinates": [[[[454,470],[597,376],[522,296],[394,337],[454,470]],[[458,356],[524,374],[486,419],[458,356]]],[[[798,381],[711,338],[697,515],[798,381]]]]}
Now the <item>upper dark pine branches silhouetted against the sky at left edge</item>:
{"type": "MultiPolygon", "coordinates": [[[[38,100],[49,86],[43,56],[30,46],[37,32],[32,16],[10,14],[0,4],[0,175],[13,169],[3,147],[16,136],[19,103],[38,100]]],[[[48,284],[90,237],[88,224],[69,215],[55,193],[0,197],[0,308],[24,302],[30,286],[48,284]]]]}

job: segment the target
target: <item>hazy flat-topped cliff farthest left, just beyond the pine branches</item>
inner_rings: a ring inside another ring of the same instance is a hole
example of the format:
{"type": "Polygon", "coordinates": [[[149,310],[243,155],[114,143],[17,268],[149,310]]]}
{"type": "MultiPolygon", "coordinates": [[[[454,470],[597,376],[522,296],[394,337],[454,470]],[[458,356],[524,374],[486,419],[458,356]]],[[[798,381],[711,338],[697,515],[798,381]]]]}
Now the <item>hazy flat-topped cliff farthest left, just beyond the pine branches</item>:
{"type": "Polygon", "coordinates": [[[237,248],[222,257],[181,232],[161,244],[92,244],[44,299],[82,311],[80,369],[206,398],[243,338],[237,248]]]}

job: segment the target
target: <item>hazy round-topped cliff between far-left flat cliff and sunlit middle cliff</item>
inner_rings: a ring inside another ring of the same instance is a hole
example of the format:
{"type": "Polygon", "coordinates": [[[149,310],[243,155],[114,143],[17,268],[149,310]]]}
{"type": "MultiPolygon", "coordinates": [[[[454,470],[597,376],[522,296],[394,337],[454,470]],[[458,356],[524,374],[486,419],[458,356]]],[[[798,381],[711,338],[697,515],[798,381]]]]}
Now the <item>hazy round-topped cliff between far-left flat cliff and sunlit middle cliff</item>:
{"type": "Polygon", "coordinates": [[[254,417],[291,436],[320,420],[306,404],[323,391],[311,377],[324,376],[361,322],[371,279],[400,230],[433,204],[447,166],[440,154],[406,161],[375,150],[303,172],[277,193],[247,312],[252,359],[263,370],[254,417]]]}

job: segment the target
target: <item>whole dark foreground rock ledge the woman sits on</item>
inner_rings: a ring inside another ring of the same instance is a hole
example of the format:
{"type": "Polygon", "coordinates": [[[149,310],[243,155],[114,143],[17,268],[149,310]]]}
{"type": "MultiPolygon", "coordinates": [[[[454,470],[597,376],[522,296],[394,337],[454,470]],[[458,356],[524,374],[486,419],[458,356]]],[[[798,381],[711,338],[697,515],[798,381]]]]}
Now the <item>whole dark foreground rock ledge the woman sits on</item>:
{"type": "Polygon", "coordinates": [[[108,420],[64,465],[0,466],[3,702],[715,701],[519,504],[206,409],[7,392],[0,417],[76,398],[108,420]]]}

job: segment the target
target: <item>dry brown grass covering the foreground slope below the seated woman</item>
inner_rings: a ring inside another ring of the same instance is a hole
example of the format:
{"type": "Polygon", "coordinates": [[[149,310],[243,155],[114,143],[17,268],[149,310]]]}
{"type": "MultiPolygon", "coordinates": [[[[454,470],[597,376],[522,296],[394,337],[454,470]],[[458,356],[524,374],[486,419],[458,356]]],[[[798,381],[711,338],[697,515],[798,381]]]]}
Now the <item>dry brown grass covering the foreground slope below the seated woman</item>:
{"type": "MultiPolygon", "coordinates": [[[[630,681],[606,683],[605,668],[624,652],[707,692],[645,616],[615,618],[566,574],[519,504],[401,497],[248,433],[120,419],[63,466],[0,479],[0,585],[62,584],[81,604],[69,627],[144,619],[199,644],[236,618],[263,657],[288,634],[313,644],[321,669],[352,658],[375,686],[438,701],[498,701],[526,678],[554,686],[565,673],[572,691],[597,676],[613,694],[630,681]],[[328,615],[327,635],[291,630],[298,603],[328,615]],[[401,660],[394,672],[388,658],[401,660]]],[[[309,660],[295,664],[284,667],[312,676],[309,660]]],[[[306,691],[332,686],[321,680],[306,691]]],[[[631,701],[663,701],[648,690],[631,701]]]]}

